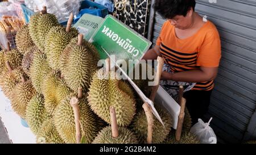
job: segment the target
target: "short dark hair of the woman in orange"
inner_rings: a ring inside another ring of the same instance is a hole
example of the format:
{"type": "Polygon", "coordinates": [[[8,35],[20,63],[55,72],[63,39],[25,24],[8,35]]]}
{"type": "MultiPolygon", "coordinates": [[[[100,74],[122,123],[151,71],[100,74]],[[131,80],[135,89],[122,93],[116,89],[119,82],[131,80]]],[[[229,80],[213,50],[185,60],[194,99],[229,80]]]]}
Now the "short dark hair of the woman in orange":
{"type": "Polygon", "coordinates": [[[195,11],[195,6],[195,0],[156,0],[154,3],[155,11],[166,19],[172,19],[176,15],[185,16],[191,7],[195,11]]]}

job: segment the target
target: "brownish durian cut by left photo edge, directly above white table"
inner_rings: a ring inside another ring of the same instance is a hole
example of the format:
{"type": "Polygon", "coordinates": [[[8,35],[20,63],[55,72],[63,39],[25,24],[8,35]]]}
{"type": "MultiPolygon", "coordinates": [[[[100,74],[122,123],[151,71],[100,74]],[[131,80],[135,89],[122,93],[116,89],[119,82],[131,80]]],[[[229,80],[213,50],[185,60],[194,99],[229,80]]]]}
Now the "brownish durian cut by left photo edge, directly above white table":
{"type": "Polygon", "coordinates": [[[5,94],[7,98],[11,98],[11,91],[13,91],[16,84],[21,82],[20,77],[22,74],[24,75],[23,70],[20,67],[18,67],[17,69],[14,69],[12,72],[3,72],[0,75],[0,86],[3,91],[3,94],[5,94]]]}

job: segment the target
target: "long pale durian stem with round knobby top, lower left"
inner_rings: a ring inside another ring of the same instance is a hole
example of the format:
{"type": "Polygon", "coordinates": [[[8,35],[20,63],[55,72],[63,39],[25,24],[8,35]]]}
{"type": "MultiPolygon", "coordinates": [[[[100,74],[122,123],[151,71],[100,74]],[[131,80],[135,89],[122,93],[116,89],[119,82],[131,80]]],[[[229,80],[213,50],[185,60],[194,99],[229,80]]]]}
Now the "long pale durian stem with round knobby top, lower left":
{"type": "Polygon", "coordinates": [[[80,144],[81,141],[81,126],[80,126],[80,111],[79,111],[79,100],[76,97],[72,97],[70,100],[70,104],[73,108],[74,116],[75,116],[75,125],[76,125],[76,143],[80,144]]]}

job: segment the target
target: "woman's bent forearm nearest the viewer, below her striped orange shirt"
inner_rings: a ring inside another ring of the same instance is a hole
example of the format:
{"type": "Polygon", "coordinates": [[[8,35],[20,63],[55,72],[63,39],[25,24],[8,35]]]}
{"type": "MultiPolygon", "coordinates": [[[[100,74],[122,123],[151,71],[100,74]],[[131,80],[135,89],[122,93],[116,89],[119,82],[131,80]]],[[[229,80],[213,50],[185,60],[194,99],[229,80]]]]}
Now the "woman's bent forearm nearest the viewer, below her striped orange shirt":
{"type": "Polygon", "coordinates": [[[162,72],[161,79],[182,82],[203,82],[216,78],[218,68],[200,67],[200,69],[189,70],[179,73],[162,72]]]}

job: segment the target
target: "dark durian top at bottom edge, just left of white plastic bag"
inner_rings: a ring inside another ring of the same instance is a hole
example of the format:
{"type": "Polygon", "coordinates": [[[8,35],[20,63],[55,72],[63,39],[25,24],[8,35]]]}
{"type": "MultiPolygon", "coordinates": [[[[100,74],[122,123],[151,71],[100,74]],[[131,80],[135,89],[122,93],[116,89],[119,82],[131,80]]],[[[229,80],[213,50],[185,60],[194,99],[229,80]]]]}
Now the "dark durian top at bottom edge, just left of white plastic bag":
{"type": "Polygon", "coordinates": [[[190,132],[182,132],[180,141],[175,140],[175,132],[171,132],[168,139],[165,141],[166,144],[200,144],[200,141],[196,140],[196,136],[190,132]]]}

